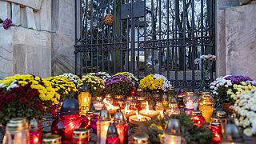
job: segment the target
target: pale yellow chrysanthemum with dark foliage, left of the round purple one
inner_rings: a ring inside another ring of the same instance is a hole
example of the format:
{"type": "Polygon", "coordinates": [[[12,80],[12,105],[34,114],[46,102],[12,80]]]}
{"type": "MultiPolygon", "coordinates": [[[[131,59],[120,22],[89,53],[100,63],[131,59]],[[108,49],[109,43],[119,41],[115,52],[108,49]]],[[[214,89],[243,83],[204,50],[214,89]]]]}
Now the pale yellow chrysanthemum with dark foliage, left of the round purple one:
{"type": "Polygon", "coordinates": [[[82,87],[84,84],[88,86],[89,92],[92,96],[98,96],[98,94],[101,94],[105,89],[102,78],[99,78],[92,73],[83,75],[82,81],[78,84],[78,86],[82,87]]]}

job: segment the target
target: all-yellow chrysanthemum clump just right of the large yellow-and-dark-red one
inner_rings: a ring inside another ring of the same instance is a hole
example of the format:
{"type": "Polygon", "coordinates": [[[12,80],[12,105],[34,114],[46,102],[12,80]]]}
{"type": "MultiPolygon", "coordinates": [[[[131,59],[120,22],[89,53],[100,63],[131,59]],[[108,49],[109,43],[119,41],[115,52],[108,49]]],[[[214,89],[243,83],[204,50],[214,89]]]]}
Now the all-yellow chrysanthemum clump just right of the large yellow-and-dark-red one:
{"type": "Polygon", "coordinates": [[[49,77],[46,78],[46,80],[50,82],[51,86],[54,87],[57,93],[61,95],[61,101],[66,98],[66,94],[78,92],[74,82],[65,76],[49,77]]]}

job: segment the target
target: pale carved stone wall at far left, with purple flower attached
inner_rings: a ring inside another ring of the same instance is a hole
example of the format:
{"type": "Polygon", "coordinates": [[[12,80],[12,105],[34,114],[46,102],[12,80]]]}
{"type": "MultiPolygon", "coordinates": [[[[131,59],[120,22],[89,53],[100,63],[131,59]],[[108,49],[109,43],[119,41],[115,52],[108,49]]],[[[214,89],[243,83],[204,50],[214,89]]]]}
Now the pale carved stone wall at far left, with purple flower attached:
{"type": "Polygon", "coordinates": [[[13,74],[51,75],[51,0],[0,1],[0,78],[13,74]]]}

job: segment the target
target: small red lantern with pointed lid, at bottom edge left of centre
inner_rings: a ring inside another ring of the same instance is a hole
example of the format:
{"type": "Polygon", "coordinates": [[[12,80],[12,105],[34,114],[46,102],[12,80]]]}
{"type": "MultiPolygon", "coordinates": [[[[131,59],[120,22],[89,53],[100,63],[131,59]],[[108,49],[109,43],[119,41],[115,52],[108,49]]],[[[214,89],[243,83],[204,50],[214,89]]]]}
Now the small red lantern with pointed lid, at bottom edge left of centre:
{"type": "Polygon", "coordinates": [[[106,144],[120,144],[120,140],[118,138],[118,130],[114,123],[111,122],[106,135],[106,144]]]}

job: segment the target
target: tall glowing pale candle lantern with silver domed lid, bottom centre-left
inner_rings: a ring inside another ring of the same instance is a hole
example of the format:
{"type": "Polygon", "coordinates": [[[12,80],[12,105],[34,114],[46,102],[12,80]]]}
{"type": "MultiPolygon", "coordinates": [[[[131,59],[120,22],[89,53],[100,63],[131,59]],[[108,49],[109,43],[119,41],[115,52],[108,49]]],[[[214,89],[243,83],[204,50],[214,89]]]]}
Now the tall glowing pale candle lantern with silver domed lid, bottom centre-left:
{"type": "Polygon", "coordinates": [[[106,134],[108,127],[110,126],[110,114],[107,110],[101,110],[100,116],[97,122],[97,143],[106,143],[106,134]]]}

